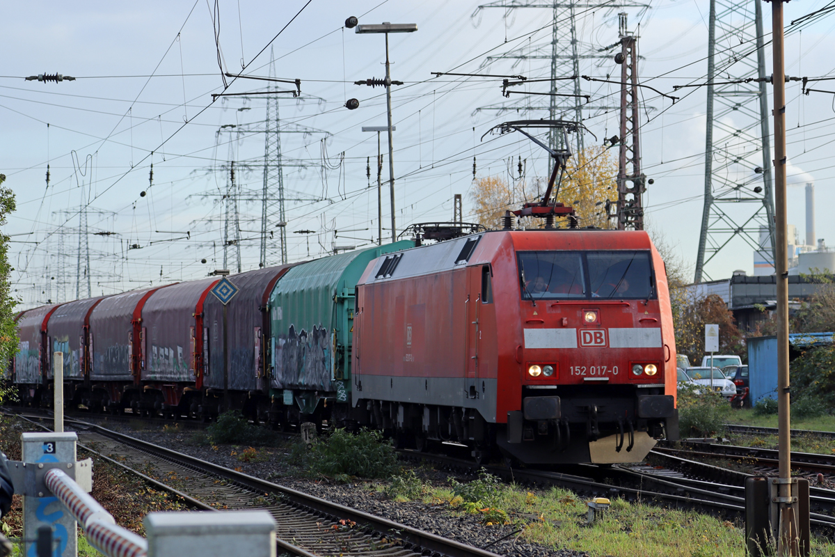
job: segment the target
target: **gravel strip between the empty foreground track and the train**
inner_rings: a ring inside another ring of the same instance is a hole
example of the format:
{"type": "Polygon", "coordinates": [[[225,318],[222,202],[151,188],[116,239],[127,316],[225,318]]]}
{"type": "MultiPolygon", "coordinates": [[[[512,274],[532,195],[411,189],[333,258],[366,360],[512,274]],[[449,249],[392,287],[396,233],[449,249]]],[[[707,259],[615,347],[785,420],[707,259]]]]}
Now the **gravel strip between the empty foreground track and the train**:
{"type": "MultiPolygon", "coordinates": [[[[239,456],[246,448],[245,446],[198,445],[193,442],[194,431],[137,431],[129,428],[125,423],[113,421],[107,421],[101,425],[161,447],[202,458],[211,463],[266,479],[352,509],[360,509],[412,528],[455,539],[463,544],[488,549],[496,554],[513,557],[589,557],[589,554],[584,551],[554,549],[540,544],[525,543],[524,540],[519,539],[518,527],[513,525],[485,526],[479,522],[476,515],[453,513],[447,504],[393,501],[377,489],[380,484],[385,484],[382,482],[357,481],[352,484],[338,484],[329,479],[299,478],[293,475],[294,470],[286,463],[286,458],[283,458],[288,452],[286,448],[258,448],[258,453],[266,457],[262,462],[241,462],[239,456]]],[[[447,478],[454,475],[428,468],[421,468],[421,472],[424,476],[428,475],[429,482],[438,486],[446,484],[447,478]]]]}

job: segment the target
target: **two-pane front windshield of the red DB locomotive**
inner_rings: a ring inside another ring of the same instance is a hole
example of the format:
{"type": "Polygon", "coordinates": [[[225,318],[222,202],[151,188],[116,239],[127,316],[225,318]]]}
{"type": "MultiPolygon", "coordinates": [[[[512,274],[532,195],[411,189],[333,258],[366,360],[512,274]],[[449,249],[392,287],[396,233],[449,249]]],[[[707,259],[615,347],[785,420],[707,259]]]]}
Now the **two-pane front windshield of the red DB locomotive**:
{"type": "Polygon", "coordinates": [[[648,251],[521,251],[524,300],[655,297],[648,251]]]}

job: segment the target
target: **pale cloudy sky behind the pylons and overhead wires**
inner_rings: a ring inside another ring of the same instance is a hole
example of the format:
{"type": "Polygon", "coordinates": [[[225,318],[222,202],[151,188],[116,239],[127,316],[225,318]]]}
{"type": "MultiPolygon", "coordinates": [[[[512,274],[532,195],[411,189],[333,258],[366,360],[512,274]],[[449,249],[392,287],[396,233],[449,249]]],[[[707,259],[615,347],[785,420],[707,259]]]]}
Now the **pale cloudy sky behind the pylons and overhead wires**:
{"type": "MultiPolygon", "coordinates": [[[[786,22],[826,4],[787,3],[786,22]]],[[[763,8],[770,39],[771,5],[763,8]]],[[[643,170],[654,180],[644,198],[647,221],[690,266],[688,274],[701,226],[706,91],[675,93],[673,86],[704,82],[708,9],[704,0],[663,0],[651,2],[650,8],[577,10],[579,42],[590,50],[617,42],[617,13],[628,13],[630,32],[639,32],[640,24],[641,82],[682,97],[672,105],[644,89],[640,124],[643,170]]],[[[385,94],[353,82],[383,77],[384,40],[343,28],[352,15],[360,23],[417,23],[417,33],[390,37],[392,78],[405,82],[392,88],[399,230],[412,222],[451,220],[455,194],[463,195],[464,220],[473,220],[473,156],[478,177],[509,178],[509,157],[525,160],[526,180],[548,174],[544,151],[519,134],[481,140],[504,120],[547,116],[542,110],[498,114],[485,107],[544,106],[546,97],[504,99],[500,79],[436,78],[432,72],[549,76],[549,60],[529,56],[538,48],[549,50],[549,9],[478,10],[478,3],[438,0],[3,3],[0,171],[18,200],[18,211],[4,231],[13,235],[10,256],[23,305],[75,297],[82,206],[88,208],[94,296],[195,279],[221,268],[223,195],[231,160],[240,188],[241,268],[257,268],[266,100],[251,95],[213,102],[211,95],[264,91],[265,82],[226,78],[225,89],[219,58],[227,72],[267,76],[272,53],[279,78],[301,79],[301,96],[281,94],[279,101],[290,260],[376,241],[377,190],[368,187],[367,158],[374,185],[377,137],[361,129],[386,124],[385,94]],[[514,49],[527,55],[492,58],[492,63],[488,58],[514,49]],[[38,73],[77,79],[23,79],[38,73]],[[359,99],[359,109],[344,108],[351,98],[359,99]]],[[[789,33],[787,73],[831,74],[833,27],[835,18],[827,17],[789,33]]],[[[732,38],[720,45],[726,53],[746,52],[744,46],[732,38]]],[[[620,79],[611,53],[584,59],[580,73],[620,79]]],[[[767,48],[767,73],[771,65],[767,48]]],[[[730,71],[732,76],[735,67],[730,71]]],[[[605,107],[617,103],[618,87],[589,82],[582,93],[592,96],[593,106],[605,107]]],[[[814,87],[835,90],[827,82],[814,87]]],[[[522,90],[544,92],[548,85],[528,84],[522,90]]],[[[771,95],[770,85],[768,90],[771,95]]],[[[560,84],[560,91],[570,92],[569,85],[560,84]]],[[[817,237],[835,244],[835,221],[820,210],[835,203],[835,171],[829,162],[835,95],[805,96],[800,84],[792,82],[787,98],[789,180],[797,185],[814,180],[817,237]]],[[[601,144],[618,133],[617,118],[616,110],[586,111],[585,124],[597,137],[586,134],[586,144],[601,144]]],[[[736,125],[732,117],[727,123],[736,125]]],[[[387,153],[385,134],[382,150],[387,153]]],[[[383,180],[387,165],[386,159],[383,180]]],[[[756,178],[752,172],[745,170],[741,179],[756,178]]],[[[802,187],[789,190],[789,222],[801,236],[803,195],[802,187]]],[[[388,228],[387,190],[383,199],[388,228]]],[[[269,265],[281,261],[276,211],[273,203],[268,220],[276,234],[268,242],[269,265]]],[[[234,230],[230,234],[234,239],[234,230]]],[[[384,230],[387,236],[390,231],[384,230]]],[[[227,257],[226,266],[235,271],[234,247],[227,257]]],[[[753,271],[751,248],[740,240],[706,267],[714,279],[736,269],[753,271]]],[[[80,291],[86,296],[86,281],[80,291]]]]}

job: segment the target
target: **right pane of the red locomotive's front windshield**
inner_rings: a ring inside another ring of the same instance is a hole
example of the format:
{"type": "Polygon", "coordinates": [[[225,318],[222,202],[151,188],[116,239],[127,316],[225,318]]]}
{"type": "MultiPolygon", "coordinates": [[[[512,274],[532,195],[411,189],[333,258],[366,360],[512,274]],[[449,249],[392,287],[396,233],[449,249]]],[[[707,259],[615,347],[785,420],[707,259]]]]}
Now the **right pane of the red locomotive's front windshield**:
{"type": "Polygon", "coordinates": [[[591,296],[594,298],[655,297],[650,254],[646,251],[590,251],[591,296]]]}

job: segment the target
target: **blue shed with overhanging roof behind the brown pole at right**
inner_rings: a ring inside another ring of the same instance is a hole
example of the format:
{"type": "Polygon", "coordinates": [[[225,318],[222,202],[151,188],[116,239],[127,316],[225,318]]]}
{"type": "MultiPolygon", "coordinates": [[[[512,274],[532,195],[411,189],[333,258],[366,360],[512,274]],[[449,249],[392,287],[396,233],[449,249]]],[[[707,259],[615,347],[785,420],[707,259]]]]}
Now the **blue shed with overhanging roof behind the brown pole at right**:
{"type": "MultiPolygon", "coordinates": [[[[749,338],[748,374],[751,403],[763,398],[777,398],[777,337],[749,338]]],[[[802,332],[788,336],[789,373],[791,361],[810,347],[832,344],[831,332],[802,332]]]]}

